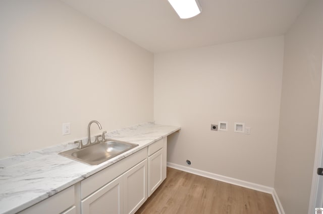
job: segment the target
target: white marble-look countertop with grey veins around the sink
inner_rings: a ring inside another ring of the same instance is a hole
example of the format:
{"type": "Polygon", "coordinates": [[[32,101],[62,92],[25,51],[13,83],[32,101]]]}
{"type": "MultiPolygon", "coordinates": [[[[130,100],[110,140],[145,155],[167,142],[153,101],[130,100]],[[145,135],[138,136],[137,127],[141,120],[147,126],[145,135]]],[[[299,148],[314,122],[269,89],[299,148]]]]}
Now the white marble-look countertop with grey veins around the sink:
{"type": "Polygon", "coordinates": [[[180,127],[152,122],[109,132],[107,138],[139,146],[99,165],[90,166],[58,155],[76,148],[60,144],[0,160],[0,213],[17,213],[58,193],[94,173],[130,156],[153,142],[180,130],[180,127]]]}

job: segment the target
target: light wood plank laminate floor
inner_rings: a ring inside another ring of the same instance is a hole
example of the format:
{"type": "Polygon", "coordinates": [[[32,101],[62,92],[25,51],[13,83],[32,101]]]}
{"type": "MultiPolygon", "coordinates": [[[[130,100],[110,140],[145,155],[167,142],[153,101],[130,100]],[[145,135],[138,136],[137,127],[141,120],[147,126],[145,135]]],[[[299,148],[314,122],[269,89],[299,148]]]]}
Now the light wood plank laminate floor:
{"type": "Polygon", "coordinates": [[[278,214],[271,194],[167,168],[136,214],[278,214]]]}

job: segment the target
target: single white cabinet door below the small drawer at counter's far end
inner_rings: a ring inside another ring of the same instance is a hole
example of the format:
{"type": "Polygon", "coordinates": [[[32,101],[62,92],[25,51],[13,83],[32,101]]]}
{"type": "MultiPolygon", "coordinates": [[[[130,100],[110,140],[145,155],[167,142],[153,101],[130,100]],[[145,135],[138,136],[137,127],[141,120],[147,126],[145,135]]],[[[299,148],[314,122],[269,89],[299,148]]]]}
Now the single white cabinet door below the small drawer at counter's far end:
{"type": "Polygon", "coordinates": [[[164,149],[161,149],[148,157],[148,196],[163,182],[164,149]]]}

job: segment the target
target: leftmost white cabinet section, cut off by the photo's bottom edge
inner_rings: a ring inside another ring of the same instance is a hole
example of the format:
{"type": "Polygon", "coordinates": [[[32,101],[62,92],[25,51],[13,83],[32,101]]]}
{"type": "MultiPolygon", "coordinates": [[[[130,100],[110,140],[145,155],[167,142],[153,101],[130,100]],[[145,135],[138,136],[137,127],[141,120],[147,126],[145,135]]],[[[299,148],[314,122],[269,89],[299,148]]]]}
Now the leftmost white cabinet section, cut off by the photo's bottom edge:
{"type": "Polygon", "coordinates": [[[35,214],[35,213],[76,214],[74,186],[71,186],[19,212],[19,214],[35,214]]]}

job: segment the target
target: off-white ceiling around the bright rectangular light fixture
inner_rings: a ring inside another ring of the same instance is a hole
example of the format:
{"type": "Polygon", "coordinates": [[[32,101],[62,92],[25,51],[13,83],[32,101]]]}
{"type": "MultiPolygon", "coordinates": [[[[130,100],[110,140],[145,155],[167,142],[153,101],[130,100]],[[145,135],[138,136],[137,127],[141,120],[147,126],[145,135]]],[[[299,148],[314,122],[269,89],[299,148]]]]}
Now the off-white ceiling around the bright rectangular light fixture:
{"type": "Polygon", "coordinates": [[[167,0],[62,0],[151,52],[283,35],[309,0],[199,0],[180,19],[167,0]]]}

